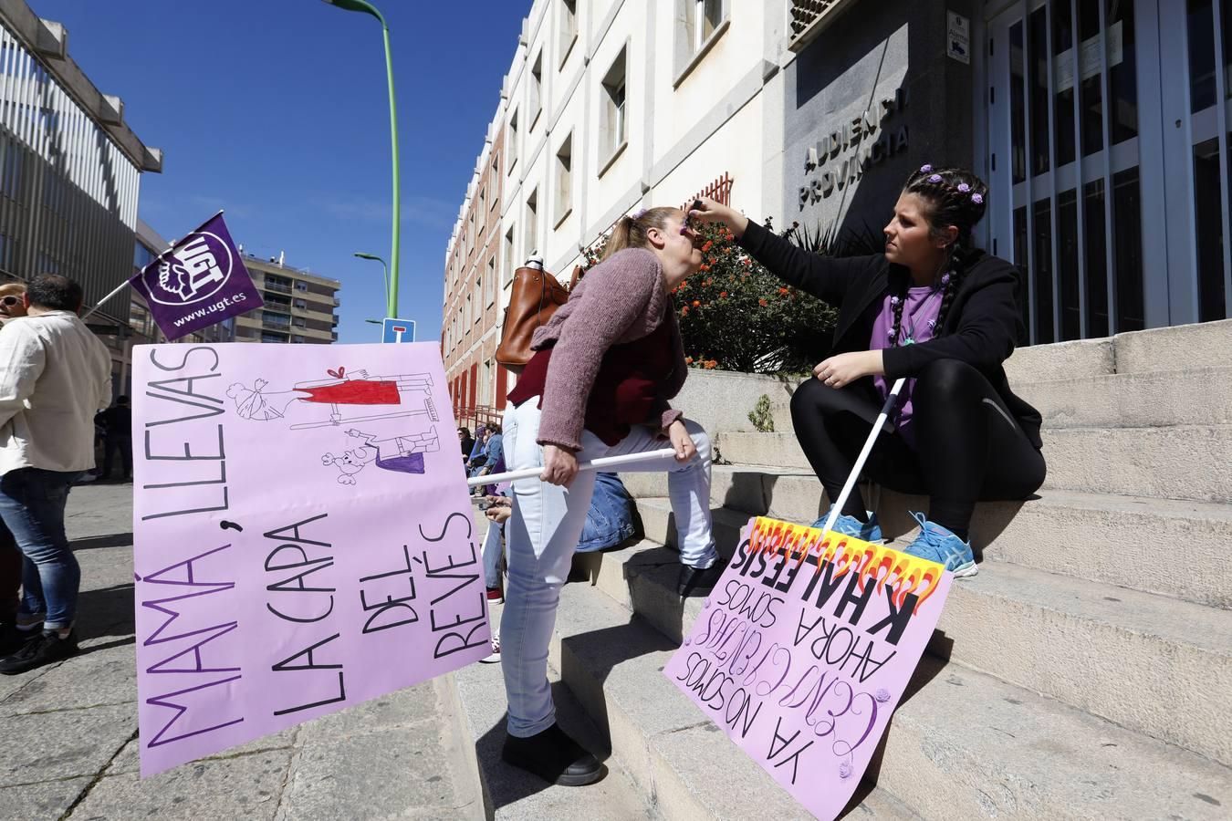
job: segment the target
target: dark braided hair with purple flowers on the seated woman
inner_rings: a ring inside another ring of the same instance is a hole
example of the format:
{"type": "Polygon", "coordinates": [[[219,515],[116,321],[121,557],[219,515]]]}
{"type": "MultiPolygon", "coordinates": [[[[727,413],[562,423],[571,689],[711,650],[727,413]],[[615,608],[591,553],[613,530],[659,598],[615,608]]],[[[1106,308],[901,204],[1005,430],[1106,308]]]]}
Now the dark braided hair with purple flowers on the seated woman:
{"type": "MultiPolygon", "coordinates": [[[[931,165],[923,165],[907,178],[903,193],[917,194],[924,201],[928,208],[925,218],[929,234],[934,239],[944,239],[950,225],[958,229],[958,235],[946,246],[945,260],[938,270],[945,272],[940,276],[941,305],[934,326],[934,336],[940,336],[954,295],[962,287],[967,265],[977,255],[977,249],[971,241],[971,231],[976,223],[983,219],[988,186],[965,169],[934,169],[931,165]]],[[[903,305],[907,303],[906,281],[902,292],[893,294],[890,302],[894,311],[890,343],[898,345],[902,338],[903,305]]]]}

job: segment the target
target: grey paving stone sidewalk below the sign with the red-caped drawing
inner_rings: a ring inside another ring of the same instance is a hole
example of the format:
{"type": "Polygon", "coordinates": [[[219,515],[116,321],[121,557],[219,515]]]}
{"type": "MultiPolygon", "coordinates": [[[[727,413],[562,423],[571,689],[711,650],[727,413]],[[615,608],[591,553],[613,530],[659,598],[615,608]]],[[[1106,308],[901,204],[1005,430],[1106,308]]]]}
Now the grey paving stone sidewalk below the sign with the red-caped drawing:
{"type": "Polygon", "coordinates": [[[69,496],[81,654],[0,676],[0,819],[482,819],[451,676],[142,780],[132,485],[69,496]]]}

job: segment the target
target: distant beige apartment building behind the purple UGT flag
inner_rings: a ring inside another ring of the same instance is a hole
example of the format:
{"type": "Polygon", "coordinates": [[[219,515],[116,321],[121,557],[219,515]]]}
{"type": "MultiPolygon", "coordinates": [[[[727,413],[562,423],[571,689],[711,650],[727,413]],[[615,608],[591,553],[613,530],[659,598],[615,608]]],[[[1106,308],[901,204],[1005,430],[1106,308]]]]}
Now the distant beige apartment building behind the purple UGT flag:
{"type": "Polygon", "coordinates": [[[244,267],[261,290],[265,306],[235,318],[237,342],[329,345],[338,341],[338,292],[341,283],[271,260],[244,254],[244,267]]]}

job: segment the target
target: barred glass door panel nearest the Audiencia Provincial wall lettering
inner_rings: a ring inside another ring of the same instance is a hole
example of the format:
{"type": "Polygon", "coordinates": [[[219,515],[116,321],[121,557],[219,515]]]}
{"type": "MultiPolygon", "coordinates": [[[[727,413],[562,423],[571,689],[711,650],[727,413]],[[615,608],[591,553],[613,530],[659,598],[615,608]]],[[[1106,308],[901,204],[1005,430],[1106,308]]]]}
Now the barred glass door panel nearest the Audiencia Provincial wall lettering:
{"type": "Polygon", "coordinates": [[[1143,282],[1140,5],[1027,0],[988,21],[988,230],[1024,271],[1024,343],[1167,324],[1143,282]]]}

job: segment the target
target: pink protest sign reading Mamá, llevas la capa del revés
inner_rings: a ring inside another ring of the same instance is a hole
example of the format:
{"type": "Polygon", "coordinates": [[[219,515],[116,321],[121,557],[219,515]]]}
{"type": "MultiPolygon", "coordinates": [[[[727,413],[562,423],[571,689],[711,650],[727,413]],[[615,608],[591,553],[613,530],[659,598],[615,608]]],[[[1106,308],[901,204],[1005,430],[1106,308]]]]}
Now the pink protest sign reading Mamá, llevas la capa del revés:
{"type": "Polygon", "coordinates": [[[490,651],[436,345],[133,352],[142,774],[490,651]]]}

